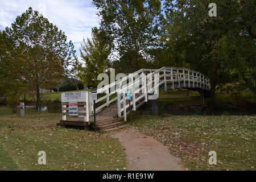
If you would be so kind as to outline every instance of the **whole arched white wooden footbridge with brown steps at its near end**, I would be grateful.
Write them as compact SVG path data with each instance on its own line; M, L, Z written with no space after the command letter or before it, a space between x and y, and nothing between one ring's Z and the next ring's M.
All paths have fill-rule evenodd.
M127 90L131 92L130 105L132 111L135 111L148 100L152 100L152 107L157 109L156 101L159 90L167 91L181 88L199 91L201 102L204 102L204 93L210 90L210 80L202 73L192 69L163 67L160 69L140 69L121 80L97 89L97 93L105 93L105 96L96 100L96 129L98 131L112 131L127 126L126 118L130 114L126 96ZM63 102L63 118L59 125L94 126L92 125L94 122L91 93L86 92L85 102L78 103L79 115L82 118L67 119L68 103Z

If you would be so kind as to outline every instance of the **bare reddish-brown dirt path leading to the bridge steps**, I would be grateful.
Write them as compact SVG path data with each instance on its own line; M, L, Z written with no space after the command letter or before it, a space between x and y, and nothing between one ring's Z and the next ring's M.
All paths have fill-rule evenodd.
M143 135L135 129L113 133L123 145L131 171L181 170L179 159L171 155L168 148L154 138Z

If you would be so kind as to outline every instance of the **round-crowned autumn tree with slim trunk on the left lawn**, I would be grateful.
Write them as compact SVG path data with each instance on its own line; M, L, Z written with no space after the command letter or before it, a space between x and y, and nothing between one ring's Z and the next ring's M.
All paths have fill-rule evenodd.
M11 27L4 33L14 49L22 49L18 55L19 72L36 90L36 108L40 105L40 86L64 75L71 64L72 42L67 43L67 36L49 23L38 11L30 7L18 16Z

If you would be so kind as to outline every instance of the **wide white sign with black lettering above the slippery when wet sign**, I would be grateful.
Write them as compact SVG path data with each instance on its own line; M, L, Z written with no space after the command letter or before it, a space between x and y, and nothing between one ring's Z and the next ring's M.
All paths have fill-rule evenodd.
M86 92L61 93L61 102L86 102Z

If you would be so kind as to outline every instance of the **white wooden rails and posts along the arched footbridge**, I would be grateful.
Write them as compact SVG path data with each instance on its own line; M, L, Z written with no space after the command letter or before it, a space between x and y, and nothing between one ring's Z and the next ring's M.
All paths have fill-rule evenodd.
M182 71L182 73L180 72ZM130 77L134 77L135 74L142 74L144 72L150 72L146 78L144 77L143 79L148 79L148 78L152 78L152 76L155 73L159 73L162 72L162 75L159 75L159 85L161 86L162 84L164 84L164 90L167 89L167 82L171 82L172 83L172 88L174 89L174 82L178 83L178 87L181 88L181 82L184 82L183 85L185 85L185 82L188 81L188 85L189 87L200 87L203 89L210 89L210 80L207 76L205 76L203 73L194 71L193 69L188 69L188 68L178 68L178 67L162 67L160 69L139 69L137 72L131 73L132 75L127 75L126 77L123 77L120 80L117 80L115 82L110 83L109 85L104 86L103 88L100 88L97 90L97 92L106 92L106 95L104 97L98 98L98 100L96 101L96 103L105 100L106 99L106 103L102 104L100 106L98 106L96 108L96 112L103 109L104 107L110 105L112 102L118 100L118 117L124 117L126 120L126 109L127 107L129 107L129 105L125 104L126 102L126 96L125 96L125 91L128 89L133 89L133 103L131 104L133 106L133 110L136 110L136 102L139 100L144 100L145 102L147 102L147 97L148 97L148 93L143 93L141 94L138 98L136 98L135 93L137 93L137 90L139 90L139 92L143 89L143 86L140 85L139 83L141 82L141 79L139 80L135 80L135 82L133 83L129 83L127 85L124 85L125 87L122 87L117 96L112 98L112 100L109 100L109 97L112 96L113 94L115 94L115 92L110 92L109 93L109 89L112 88L113 86L116 86L118 84L121 84L122 81L124 80L128 80ZM169 72L169 74L168 74ZM187 73L185 73L187 72ZM191 73L191 74L190 74ZM164 78L163 78L164 77ZM167 77L170 77L167 79ZM163 78L163 80L161 80ZM153 82L153 80L151 80L151 82ZM134 90L134 86L139 85L139 88L137 90ZM192 85L192 86L191 86ZM148 84L144 84L144 89L147 89ZM154 89L151 89L154 90ZM121 94L122 93L122 94ZM123 107L121 108L121 97L122 97L122 103L123 103ZM90 107L90 113L92 114L92 108L93 108L93 102L90 102L91 107ZM124 109L126 108L126 109ZM123 114L122 114L123 112ZM129 112L129 111L128 111Z

